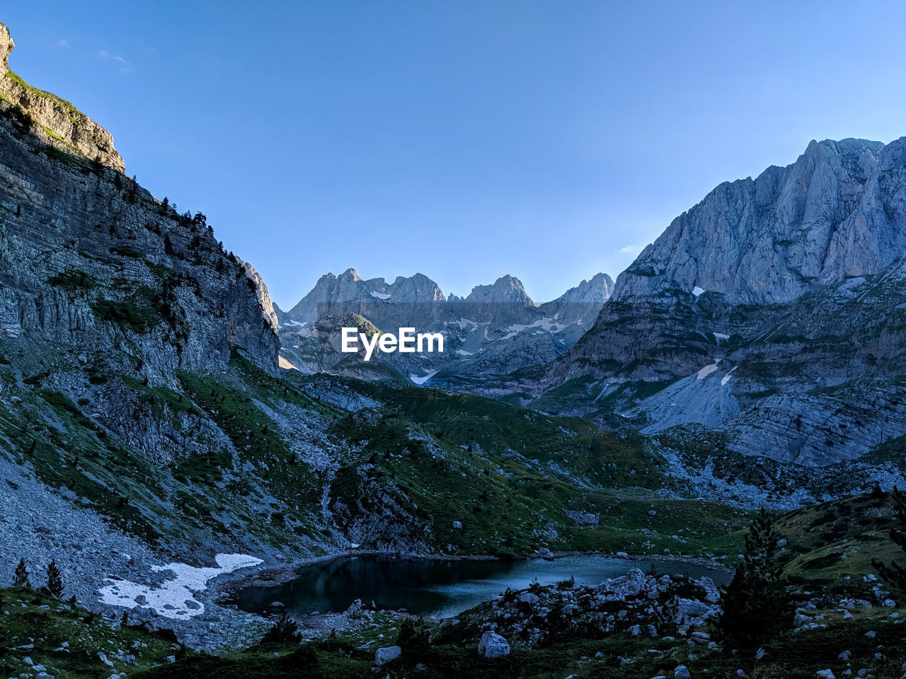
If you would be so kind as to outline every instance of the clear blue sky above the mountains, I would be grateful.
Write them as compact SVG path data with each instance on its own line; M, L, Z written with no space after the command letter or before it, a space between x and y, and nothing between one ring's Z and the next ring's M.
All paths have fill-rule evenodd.
M284 308L349 266L545 301L810 139L906 134L901 3L5 5L13 70Z

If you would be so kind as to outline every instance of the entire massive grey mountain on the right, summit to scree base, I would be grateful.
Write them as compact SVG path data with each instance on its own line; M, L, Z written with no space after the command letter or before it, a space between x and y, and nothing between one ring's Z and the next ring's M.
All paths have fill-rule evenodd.
M904 252L906 139L813 142L680 215L573 349L507 387L647 431L715 426L747 454L857 458L906 433Z

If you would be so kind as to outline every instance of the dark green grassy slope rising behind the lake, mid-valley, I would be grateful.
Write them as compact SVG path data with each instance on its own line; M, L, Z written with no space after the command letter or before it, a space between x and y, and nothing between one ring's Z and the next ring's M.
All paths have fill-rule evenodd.
M323 378L293 378L305 384ZM438 550L470 554L561 550L725 550L747 522L716 502L665 499L662 461L639 439L576 418L548 417L476 396L348 380L385 406L346 416L338 435L362 442L337 474L332 496L351 503L366 485L429 522ZM364 480L361 472L364 468ZM578 527L564 512L592 512ZM462 523L454 529L453 521ZM554 533L555 531L555 533ZM673 537L677 536L677 537Z

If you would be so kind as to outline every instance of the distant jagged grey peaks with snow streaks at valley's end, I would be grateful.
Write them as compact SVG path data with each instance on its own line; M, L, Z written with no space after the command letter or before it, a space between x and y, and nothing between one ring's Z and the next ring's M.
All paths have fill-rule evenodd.
M522 282L510 275L476 286L465 298L451 294L446 299L421 273L392 283L364 281L354 269L328 273L293 309L279 314L282 356L306 373L400 378L468 390L489 376L543 365L564 353L591 327L611 289L611 278L598 273L535 306ZM352 359L339 350L342 325L335 322L349 313L384 332L403 327L439 332L444 353L375 355L368 363Z

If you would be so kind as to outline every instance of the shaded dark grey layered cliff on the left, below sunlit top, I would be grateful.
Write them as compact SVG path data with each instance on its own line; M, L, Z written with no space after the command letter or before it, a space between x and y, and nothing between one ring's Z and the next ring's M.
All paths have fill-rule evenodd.
M9 119L0 139L0 336L53 341L89 364L140 362L152 382L225 364L230 345L276 371L266 288L203 215L177 215L117 171L48 153Z

